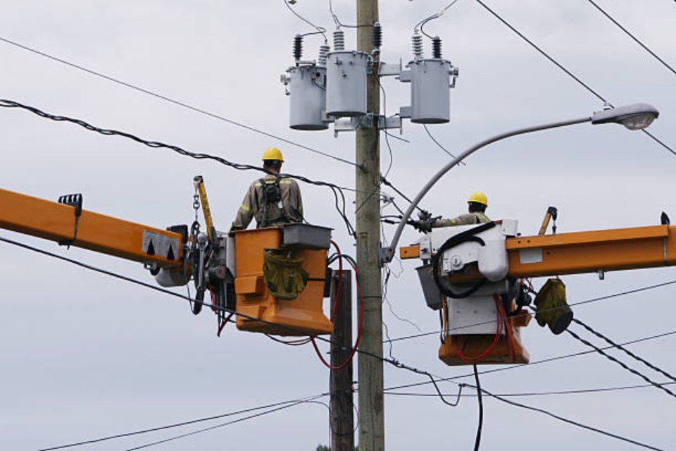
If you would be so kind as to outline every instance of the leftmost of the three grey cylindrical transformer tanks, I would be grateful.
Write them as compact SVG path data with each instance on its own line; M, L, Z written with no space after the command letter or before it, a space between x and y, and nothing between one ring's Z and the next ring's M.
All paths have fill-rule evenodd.
M289 127L294 130L326 130L326 68L301 64L287 70L291 97Z

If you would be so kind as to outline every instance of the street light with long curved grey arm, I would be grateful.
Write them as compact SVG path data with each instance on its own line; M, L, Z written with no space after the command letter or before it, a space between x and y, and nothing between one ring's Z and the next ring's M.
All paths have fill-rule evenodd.
M657 109L654 106L651 106L649 104L632 104L627 106L620 106L618 108L609 108L603 109L601 111L596 111L596 113L592 114L591 117L587 118L572 119L570 121L535 125L534 127L512 130L511 132L501 133L500 135L490 137L487 140L475 144L474 146L470 147L469 149L459 154L455 159L449 161L449 163L446 163L446 166L439 169L439 171L436 174L434 174L434 176L430 178L430 180L425 184L423 189L420 190L420 192L418 192L418 194L413 199L413 202L411 202L411 205L408 206L408 209L403 214L403 218L401 218L399 226L397 226L396 231L394 232L394 236L392 237L392 242L390 242L389 247L382 247L380 249L381 264L387 264L394 258L394 251L396 249L397 243L399 242L399 238L401 237L401 233L403 232L403 228L406 226L408 219L411 218L411 214L413 214L413 210L415 209L415 207L418 206L420 200L423 199L423 197L425 197L425 194L427 194L427 192L430 191L432 186L434 186L434 184L437 183L440 178L446 175L446 173L450 171L450 169L453 166L456 166L458 163L463 161L463 159L467 158L468 156L470 156L477 150L481 149L482 147L485 147L488 144L504 140L505 138L515 135L524 135L525 133L537 132L539 130L560 128L565 127L567 125L575 125L585 122L591 122L594 125L605 123L618 123L624 125L629 130L642 130L648 127L659 115L660 112L657 111Z

